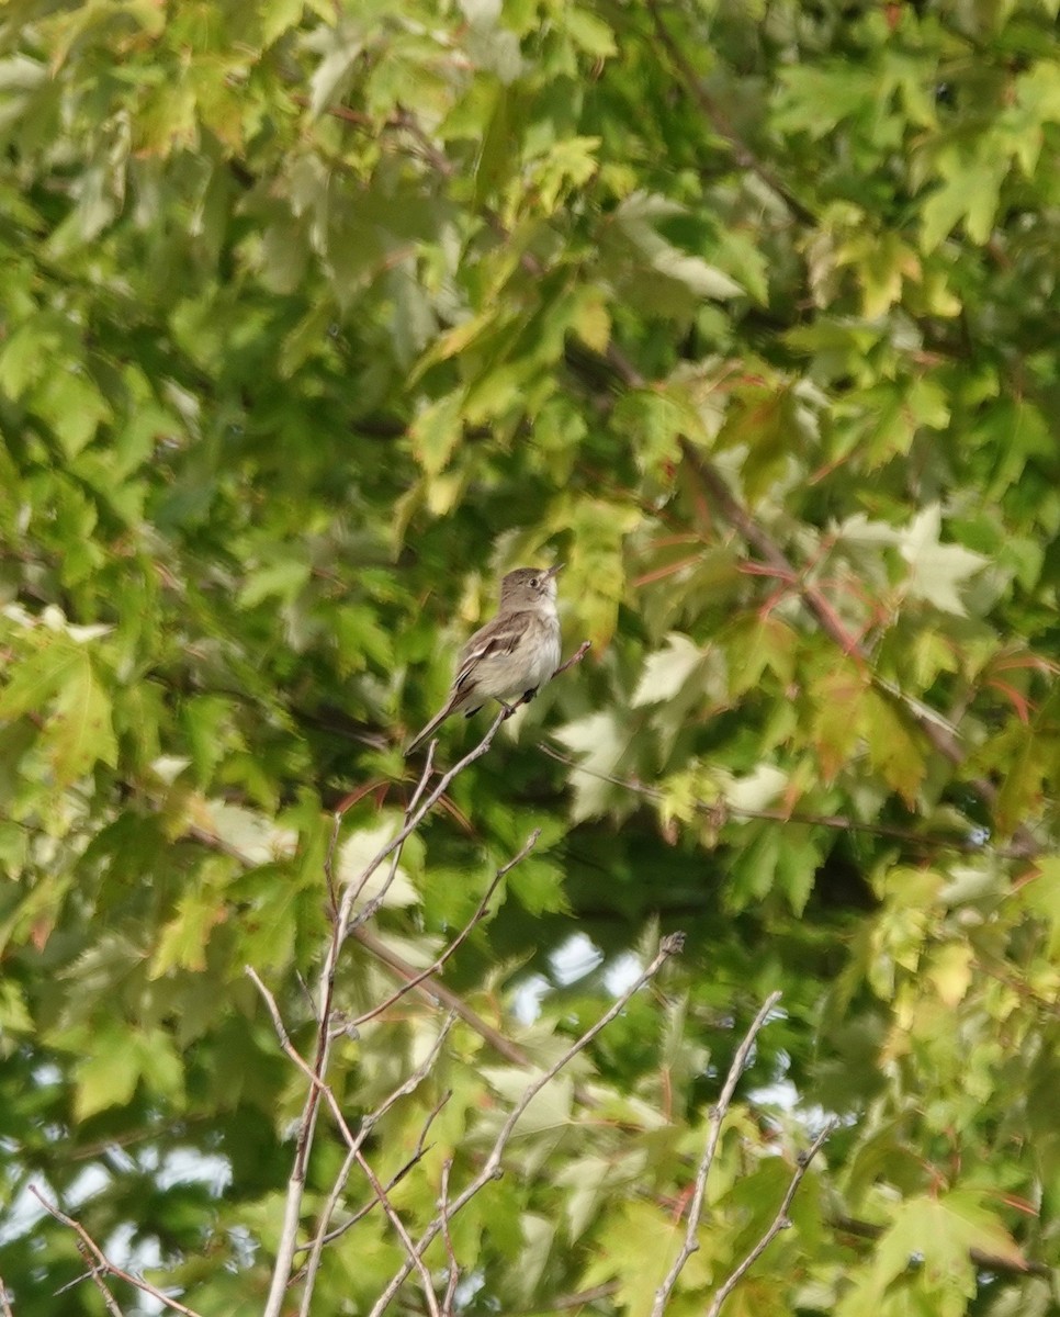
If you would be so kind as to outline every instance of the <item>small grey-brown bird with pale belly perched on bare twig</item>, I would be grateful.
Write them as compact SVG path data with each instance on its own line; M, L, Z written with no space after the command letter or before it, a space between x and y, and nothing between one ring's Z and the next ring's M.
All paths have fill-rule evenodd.
M460 653L457 674L449 698L424 730L415 736L406 755L425 741L449 718L477 714L487 699L506 709L533 699L560 666L560 618L556 612L556 573L537 568L516 568L500 582L496 616L481 627ZM508 705L510 699L520 699Z

